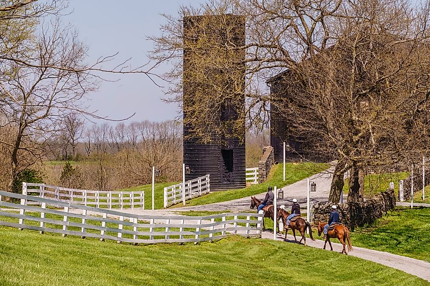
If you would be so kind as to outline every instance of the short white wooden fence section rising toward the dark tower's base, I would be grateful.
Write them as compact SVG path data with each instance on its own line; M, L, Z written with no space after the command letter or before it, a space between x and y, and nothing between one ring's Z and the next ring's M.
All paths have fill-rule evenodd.
M185 200L200 197L210 192L209 175L185 182ZM182 183L164 188L164 207L183 201Z

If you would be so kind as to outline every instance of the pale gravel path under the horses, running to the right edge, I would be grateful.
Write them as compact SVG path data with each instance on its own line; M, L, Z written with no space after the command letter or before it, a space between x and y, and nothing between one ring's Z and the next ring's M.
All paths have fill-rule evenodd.
M296 237L298 238L298 236ZM273 239L273 233L263 232L262 238ZM279 241L283 241L283 238L284 238L284 235L276 236L276 239ZM286 238L288 241L294 242L293 235L287 235ZM342 244L334 243L334 241L338 241L338 240L331 239L331 241L332 241L331 244L333 246L333 251L338 251L338 252L342 251ZM323 248L324 246L323 240L312 241L310 239L307 239L306 242L307 242L307 245L311 247ZM365 260L373 261L388 267L392 267L392 268L404 271L406 273L418 276L430 282L430 263L422 260L409 258L409 257L394 255L388 252L355 247L354 241L352 241L352 243L353 243L353 250L349 252L349 255L362 258ZM330 245L328 245L328 243L327 243L326 249L330 249Z

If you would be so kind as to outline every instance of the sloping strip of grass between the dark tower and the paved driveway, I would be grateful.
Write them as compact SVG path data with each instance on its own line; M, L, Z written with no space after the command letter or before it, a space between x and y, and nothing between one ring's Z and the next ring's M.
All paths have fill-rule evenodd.
M266 192L269 186L283 187L285 185L290 185L313 174L321 172L322 170L325 170L327 168L329 168L329 165L325 163L287 163L285 164L285 181L283 181L282 164L273 165L272 169L270 170L268 179L264 183L251 185L245 188L213 192L208 195L186 201L186 206L197 206L226 202L234 199L240 199L248 196L261 194ZM172 207L174 208L180 206L182 206L182 204L177 204Z

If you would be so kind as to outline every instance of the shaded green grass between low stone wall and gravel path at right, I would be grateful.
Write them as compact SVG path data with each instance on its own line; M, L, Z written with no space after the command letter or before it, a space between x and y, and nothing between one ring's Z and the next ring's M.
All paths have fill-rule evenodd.
M374 226L357 228L352 244L430 262L430 208L396 207Z

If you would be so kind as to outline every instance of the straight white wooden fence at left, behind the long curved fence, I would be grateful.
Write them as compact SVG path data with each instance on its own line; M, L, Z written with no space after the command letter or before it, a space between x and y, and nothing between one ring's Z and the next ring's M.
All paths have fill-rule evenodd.
M33 195L66 203L105 208L145 209L145 193L73 189L47 184L22 183L22 195Z

